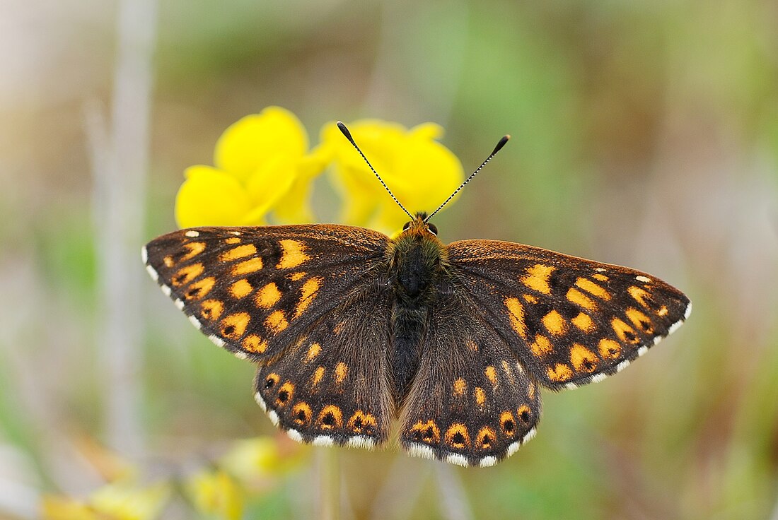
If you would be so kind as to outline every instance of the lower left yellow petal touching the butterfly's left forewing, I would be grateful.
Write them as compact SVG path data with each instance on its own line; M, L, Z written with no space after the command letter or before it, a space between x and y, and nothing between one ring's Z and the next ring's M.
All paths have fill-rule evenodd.
M242 225L251 210L246 188L231 175L210 166L191 166L176 196L180 228Z

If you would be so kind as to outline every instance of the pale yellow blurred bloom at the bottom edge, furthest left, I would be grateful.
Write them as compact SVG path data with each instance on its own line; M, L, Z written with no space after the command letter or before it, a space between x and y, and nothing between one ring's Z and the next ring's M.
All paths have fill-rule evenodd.
M44 497L41 513L46 520L152 520L159 518L169 495L166 483L141 487L120 480L100 487L86 501Z

